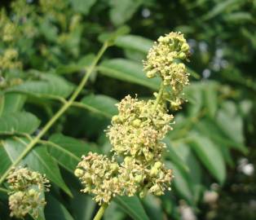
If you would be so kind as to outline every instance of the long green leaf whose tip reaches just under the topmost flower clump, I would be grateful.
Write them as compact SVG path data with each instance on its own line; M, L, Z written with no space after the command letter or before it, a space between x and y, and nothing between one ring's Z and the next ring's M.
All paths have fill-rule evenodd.
M160 79L148 79L143 73L142 65L128 59L108 59L98 69L105 76L147 86L152 90L157 90L160 85Z

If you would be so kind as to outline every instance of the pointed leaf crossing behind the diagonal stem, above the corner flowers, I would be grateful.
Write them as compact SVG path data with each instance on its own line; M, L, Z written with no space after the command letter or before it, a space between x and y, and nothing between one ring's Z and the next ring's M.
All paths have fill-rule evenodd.
M27 139L20 138L2 140L2 146L7 152L11 163L24 152L28 143L29 141ZM57 163L46 151L45 146L34 147L29 154L24 157L24 160L20 162L20 165L28 165L30 169L38 171L41 174L46 174L46 178L49 178L53 183L62 188L69 196L72 196L71 191L69 191L61 177Z

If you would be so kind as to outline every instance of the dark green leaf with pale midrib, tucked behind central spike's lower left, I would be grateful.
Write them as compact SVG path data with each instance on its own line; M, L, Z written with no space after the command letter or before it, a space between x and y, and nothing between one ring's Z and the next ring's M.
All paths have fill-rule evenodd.
M73 173L77 164L81 161L81 156L94 150L90 144L64 136L63 134L51 135L46 144L49 146L51 156L71 173Z

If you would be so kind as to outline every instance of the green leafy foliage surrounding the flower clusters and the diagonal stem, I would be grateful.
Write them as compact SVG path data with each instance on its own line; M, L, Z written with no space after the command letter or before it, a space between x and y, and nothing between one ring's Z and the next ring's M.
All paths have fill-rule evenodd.
M0 6L0 174L72 93L104 39L118 36L76 105L22 161L52 182L46 219L94 215L95 203L79 193L72 174L77 158L108 152L104 129L117 100L148 98L157 90L141 60L152 41L170 31L185 34L192 54L188 103L174 112L174 130L165 139L173 190L141 203L117 198L104 219L256 218L255 0L17 0ZM7 195L0 199L0 218L9 219Z

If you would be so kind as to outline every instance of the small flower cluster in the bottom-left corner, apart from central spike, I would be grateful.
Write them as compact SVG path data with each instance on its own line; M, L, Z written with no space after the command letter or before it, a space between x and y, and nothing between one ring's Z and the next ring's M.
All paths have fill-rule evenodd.
M17 168L11 170L7 181L11 217L24 218L29 213L33 218L38 218L40 209L46 205L43 193L49 191L50 187L45 175L27 168Z

